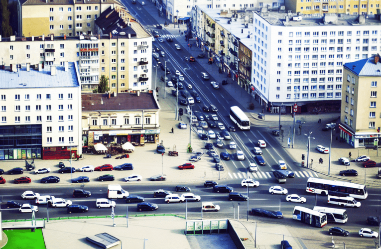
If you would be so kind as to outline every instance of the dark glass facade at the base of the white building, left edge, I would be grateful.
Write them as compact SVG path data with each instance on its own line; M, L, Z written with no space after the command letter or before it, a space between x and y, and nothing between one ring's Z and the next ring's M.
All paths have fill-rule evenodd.
M41 124L0 126L0 160L41 158Z

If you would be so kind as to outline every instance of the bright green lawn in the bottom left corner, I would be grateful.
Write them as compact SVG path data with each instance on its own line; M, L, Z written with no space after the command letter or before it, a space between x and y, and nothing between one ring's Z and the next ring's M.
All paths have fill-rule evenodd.
M2 249L46 249L42 230L4 230L8 243Z

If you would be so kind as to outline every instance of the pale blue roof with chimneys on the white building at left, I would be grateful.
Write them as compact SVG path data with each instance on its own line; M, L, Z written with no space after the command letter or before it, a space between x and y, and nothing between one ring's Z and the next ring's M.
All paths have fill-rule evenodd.
M68 63L68 71L64 66L56 66L56 75L50 75L51 66L45 66L41 71L30 67L17 68L11 72L9 68L0 70L0 88L50 88L50 87L79 87L77 68L74 62Z

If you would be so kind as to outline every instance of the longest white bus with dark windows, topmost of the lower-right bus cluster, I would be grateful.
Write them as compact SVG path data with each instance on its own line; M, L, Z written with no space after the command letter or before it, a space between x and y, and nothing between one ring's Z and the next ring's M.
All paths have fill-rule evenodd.
M366 199L368 197L368 191L365 185L313 177L308 178L306 191L322 196L328 195L328 191L336 191L349 194L349 196L357 199Z

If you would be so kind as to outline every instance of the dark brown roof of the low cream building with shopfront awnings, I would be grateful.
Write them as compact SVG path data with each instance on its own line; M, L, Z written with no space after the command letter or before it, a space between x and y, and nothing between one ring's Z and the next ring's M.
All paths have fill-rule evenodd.
M159 110L152 91L147 93L82 94L82 112Z

